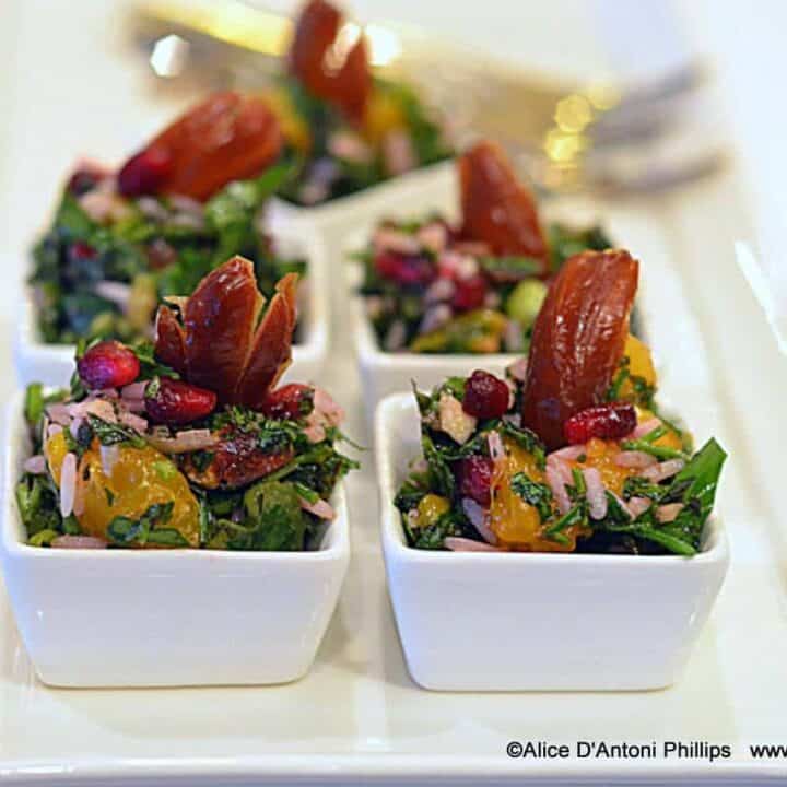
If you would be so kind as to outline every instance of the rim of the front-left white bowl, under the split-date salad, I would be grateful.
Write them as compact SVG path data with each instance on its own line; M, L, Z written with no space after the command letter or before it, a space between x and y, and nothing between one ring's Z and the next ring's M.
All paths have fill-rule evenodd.
M202 550L192 548L162 550L109 550L109 549L45 549L32 547L23 540L24 525L16 508L14 489L20 474L20 466L30 447L24 445L20 427L23 424L24 392L17 390L5 406L7 448L3 461L3 509L0 521L0 559L16 560L113 560L137 561L140 571L146 566L161 565L167 560L178 557L187 565L195 563L215 564L216 561L254 562L278 565L282 563L319 564L343 560L350 554L350 518L344 479L333 490L330 502L336 517L328 526L320 547L316 550L298 552L255 552L243 550ZM0 561L1 562L1 561Z

